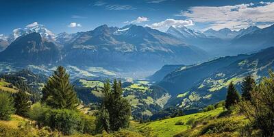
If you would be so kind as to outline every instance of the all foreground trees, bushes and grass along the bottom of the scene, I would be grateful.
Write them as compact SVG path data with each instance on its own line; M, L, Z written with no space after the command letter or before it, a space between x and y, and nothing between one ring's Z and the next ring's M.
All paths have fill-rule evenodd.
M136 121L116 80L103 84L94 113L82 112L69 74L60 66L39 101L26 84L17 92L0 91L0 136L273 136L274 73L269 75L257 85L247 75L241 97L230 82L226 100L201 112L184 115L182 109L165 109L153 121Z

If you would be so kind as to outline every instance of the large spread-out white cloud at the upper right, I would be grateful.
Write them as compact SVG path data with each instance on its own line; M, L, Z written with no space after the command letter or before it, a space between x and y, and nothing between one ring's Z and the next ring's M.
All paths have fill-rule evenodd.
M249 25L274 23L274 2L247 3L225 6L195 6L182 11L179 16L198 22L208 23L208 28L242 29Z

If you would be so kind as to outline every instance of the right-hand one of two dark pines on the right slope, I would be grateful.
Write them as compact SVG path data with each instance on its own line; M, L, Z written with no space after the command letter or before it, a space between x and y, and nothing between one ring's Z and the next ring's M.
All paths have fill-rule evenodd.
M242 81L242 99L247 101L251 100L251 91L253 90L254 86L256 85L255 79L253 79L252 75L247 75L245 79Z

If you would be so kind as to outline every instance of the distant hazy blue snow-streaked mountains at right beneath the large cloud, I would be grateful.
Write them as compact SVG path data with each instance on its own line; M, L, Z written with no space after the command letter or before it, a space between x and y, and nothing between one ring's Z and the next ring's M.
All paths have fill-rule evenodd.
M210 57L254 53L273 46L273 25L260 29L250 26L239 31L224 28L218 31L208 29L197 32L186 27L170 27L171 34L189 45L195 45L208 52Z

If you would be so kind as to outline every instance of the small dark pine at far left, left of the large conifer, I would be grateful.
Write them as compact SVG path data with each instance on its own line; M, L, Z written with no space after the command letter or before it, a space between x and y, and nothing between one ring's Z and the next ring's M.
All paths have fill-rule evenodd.
M25 91L19 90L16 92L14 95L14 108L16 108L15 114L27 117L30 105L32 105L32 102Z

